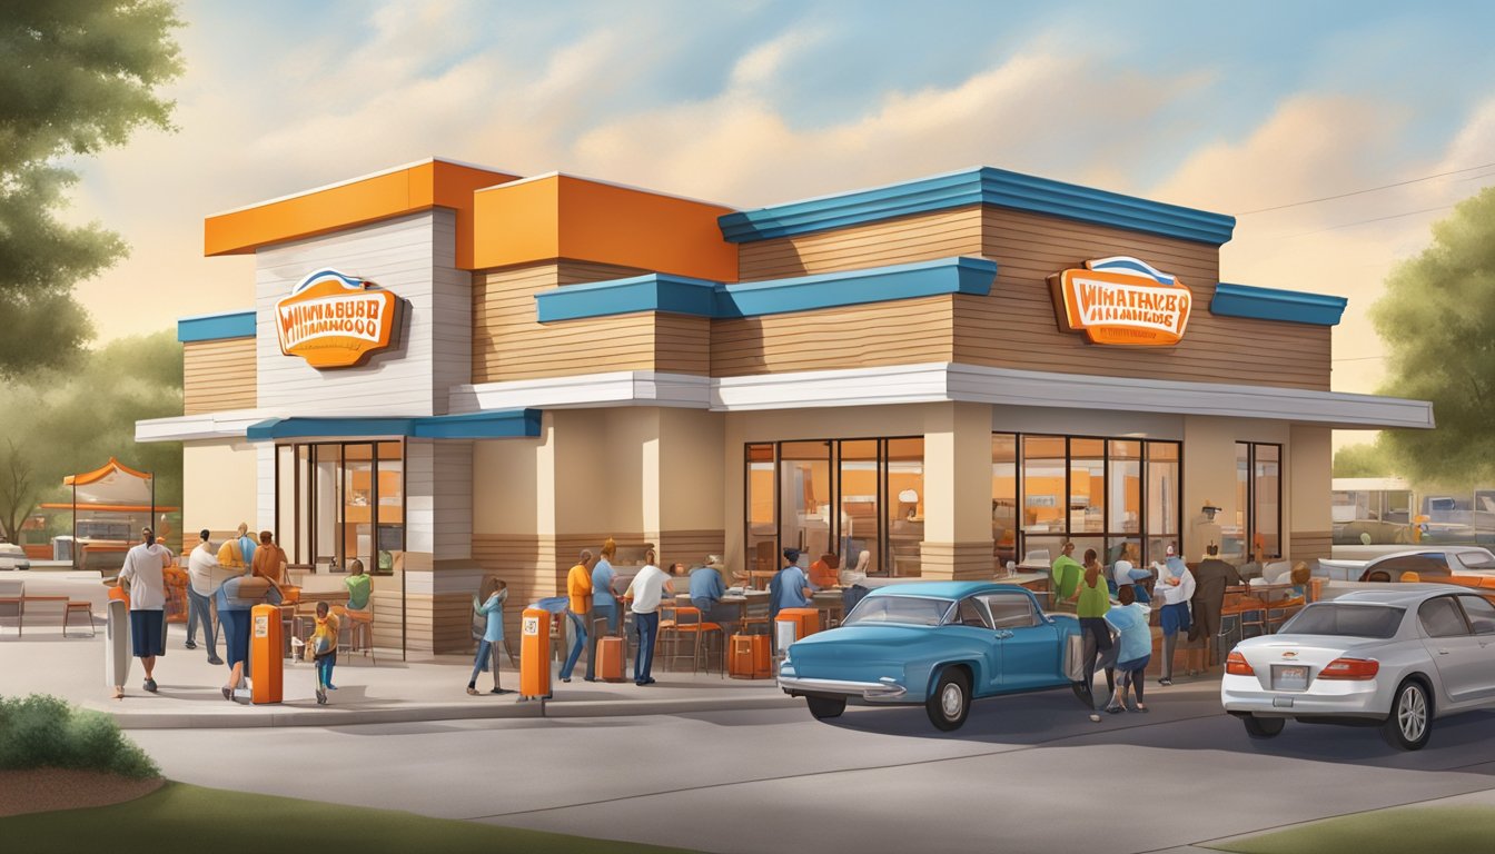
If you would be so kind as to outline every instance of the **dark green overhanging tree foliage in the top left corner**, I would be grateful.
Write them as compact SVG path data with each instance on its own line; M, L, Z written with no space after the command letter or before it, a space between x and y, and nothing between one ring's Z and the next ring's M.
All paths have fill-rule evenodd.
M78 173L64 159L170 129L158 87L181 70L169 0L0 3L0 377L54 366L93 335L78 281L124 257L99 223L58 220Z

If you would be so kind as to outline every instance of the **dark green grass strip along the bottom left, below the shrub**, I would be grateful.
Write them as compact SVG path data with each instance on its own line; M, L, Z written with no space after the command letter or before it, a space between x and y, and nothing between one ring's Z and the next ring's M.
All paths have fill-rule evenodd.
M357 854L680 851L472 821L426 818L387 809L244 794L181 782L167 782L152 794L114 806L0 818L0 839L4 841L0 848L27 854L51 851L265 854L315 850ZM315 845L317 842L333 844L335 848Z

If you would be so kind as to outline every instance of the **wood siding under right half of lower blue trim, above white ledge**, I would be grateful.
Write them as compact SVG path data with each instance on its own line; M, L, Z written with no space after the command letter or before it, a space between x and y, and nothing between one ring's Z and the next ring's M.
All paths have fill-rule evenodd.
M712 375L951 360L951 296L770 314L712 325Z

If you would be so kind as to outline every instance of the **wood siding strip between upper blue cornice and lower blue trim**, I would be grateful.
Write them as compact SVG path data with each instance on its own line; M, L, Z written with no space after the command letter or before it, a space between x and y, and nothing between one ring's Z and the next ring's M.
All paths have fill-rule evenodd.
M742 244L742 281L981 254L981 208L913 214L816 235Z

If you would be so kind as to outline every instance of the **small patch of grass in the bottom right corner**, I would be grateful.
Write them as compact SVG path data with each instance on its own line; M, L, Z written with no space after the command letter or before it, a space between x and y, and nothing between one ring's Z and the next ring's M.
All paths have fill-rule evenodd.
M0 826L3 829L3 826ZM1402 806L1262 833L1220 851L1242 854L1407 854L1495 851L1495 808Z

